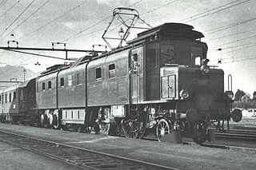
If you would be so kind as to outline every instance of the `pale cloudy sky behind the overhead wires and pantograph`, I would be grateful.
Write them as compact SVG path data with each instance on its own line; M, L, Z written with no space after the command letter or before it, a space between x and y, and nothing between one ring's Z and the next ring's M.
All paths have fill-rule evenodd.
M252 94L256 90L256 0L0 0L0 46L12 40L18 41L20 47L38 48L51 48L51 42L65 42L67 49L106 45L102 34L116 7L138 10L140 18L150 26L165 22L194 26L194 30L205 35L202 42L209 48L209 64L224 69L226 89L231 74L234 92L242 89ZM117 35L120 25L114 26L111 34ZM130 34L130 39L135 38L135 33L138 30ZM39 53L65 57L62 52ZM70 53L69 56L84 55ZM34 65L37 62L41 65ZM22 65L42 72L50 65L63 62L0 50L0 66Z

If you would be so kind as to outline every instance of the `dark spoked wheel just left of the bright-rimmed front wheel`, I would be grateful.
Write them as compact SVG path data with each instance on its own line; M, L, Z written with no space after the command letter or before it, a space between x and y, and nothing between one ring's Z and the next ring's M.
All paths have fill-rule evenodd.
M139 132L140 123L138 121L127 121L122 125L122 131L125 133L126 137L138 138L140 136Z

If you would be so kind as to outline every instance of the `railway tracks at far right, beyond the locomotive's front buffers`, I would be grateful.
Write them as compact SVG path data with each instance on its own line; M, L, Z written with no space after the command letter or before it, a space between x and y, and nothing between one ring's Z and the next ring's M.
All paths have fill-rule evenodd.
M256 132L253 130L230 130L229 132L214 132L216 139L250 140L256 141Z

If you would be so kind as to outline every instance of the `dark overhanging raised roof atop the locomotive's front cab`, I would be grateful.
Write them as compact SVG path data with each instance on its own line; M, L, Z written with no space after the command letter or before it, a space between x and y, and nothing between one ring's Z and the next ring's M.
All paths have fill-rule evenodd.
M189 39L196 40L204 38L201 32L193 30L194 27L181 23L165 23L156 26L150 30L143 31L138 34L138 38L134 38L128 44L150 38L152 35L158 35L160 39Z

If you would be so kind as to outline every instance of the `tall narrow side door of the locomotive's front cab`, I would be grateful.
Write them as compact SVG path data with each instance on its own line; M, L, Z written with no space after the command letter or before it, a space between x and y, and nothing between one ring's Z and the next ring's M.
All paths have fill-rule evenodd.
M131 49L129 53L129 68L130 68L130 102L137 104L142 100L142 47Z

